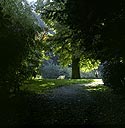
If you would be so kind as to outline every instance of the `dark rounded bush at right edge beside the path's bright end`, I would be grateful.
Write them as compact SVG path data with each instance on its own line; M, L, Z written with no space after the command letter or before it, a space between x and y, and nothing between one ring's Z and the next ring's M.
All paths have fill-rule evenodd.
M125 88L125 65L118 60L105 61L101 66L103 82L113 89Z

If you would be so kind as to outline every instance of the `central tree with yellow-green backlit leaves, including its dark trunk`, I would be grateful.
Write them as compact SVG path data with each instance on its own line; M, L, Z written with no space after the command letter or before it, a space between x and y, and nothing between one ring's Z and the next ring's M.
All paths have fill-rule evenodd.
M60 25L55 27L56 34L48 36L45 44L48 45L47 51L53 51L59 57L59 62L63 66L72 66L72 78L80 78L80 69L88 68L92 70L99 64L89 58L84 51L80 49L80 40L78 32L70 30L69 28ZM46 35L47 36L47 35ZM75 43L74 43L75 42ZM92 62L92 63L89 63Z

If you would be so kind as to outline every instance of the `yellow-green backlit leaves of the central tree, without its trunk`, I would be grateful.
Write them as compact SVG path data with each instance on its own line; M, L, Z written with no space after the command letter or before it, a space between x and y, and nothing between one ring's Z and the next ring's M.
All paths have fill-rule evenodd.
M49 47L48 49L59 57L59 63L61 65L72 65L73 56L80 58L80 68L84 71L90 71L98 67L100 62L91 59L89 54L87 55L84 53L83 49L80 48L80 43L83 40L79 38L78 32L55 21L53 21L53 24L56 34L49 36L46 40L46 44L51 44L51 48Z

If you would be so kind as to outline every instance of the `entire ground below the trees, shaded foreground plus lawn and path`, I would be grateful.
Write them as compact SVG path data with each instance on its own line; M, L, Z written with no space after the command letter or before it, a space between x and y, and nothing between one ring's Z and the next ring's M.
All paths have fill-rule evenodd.
M101 79L30 80L17 94L2 94L0 127L125 126L125 96ZM59 127L58 126L58 127Z

